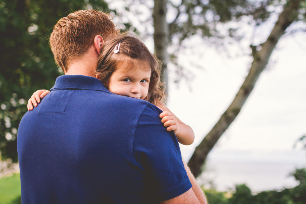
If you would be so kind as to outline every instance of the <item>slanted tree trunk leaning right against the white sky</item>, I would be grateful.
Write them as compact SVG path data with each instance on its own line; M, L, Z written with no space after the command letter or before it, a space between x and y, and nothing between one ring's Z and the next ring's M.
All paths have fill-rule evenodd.
M219 121L215 124L211 131L205 136L200 145L196 147L191 159L188 162L194 176L200 175L201 167L207 158L207 154L237 117L242 106L244 105L244 102L247 100L248 96L253 90L260 73L266 67L269 57L271 56L271 53L274 50L278 40L285 33L285 29L296 19L299 5L300 0L291 0L289 2L288 6L286 6L279 15L278 21L271 31L267 41L262 44L262 49L260 51L256 51L256 47L251 46L254 60L248 76L245 78L237 95L233 99L233 102L222 114Z

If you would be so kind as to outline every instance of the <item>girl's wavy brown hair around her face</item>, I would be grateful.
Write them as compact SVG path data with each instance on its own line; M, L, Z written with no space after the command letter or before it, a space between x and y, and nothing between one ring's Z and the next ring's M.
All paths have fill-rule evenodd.
M118 53L114 53L115 47L120 43ZM111 75L117 68L119 62L132 62L138 60L149 65L151 69L151 79L149 90L144 100L157 105L157 102L163 102L165 99L164 84L160 81L161 63L147 49L139 39L131 35L110 36L105 40L101 48L97 65L97 78L108 88ZM132 60L131 60L132 59ZM131 69L133 68L131 64ZM146 67L146 66L145 66Z

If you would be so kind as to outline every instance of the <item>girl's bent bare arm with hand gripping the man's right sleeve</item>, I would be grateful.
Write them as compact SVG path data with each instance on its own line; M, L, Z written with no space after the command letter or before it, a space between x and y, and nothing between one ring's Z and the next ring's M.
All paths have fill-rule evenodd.
M162 118L162 123L167 127L167 131L173 130L179 143L184 145L192 144L194 141L194 132L192 128L178 119L165 104L159 102L157 106L164 111L159 117Z

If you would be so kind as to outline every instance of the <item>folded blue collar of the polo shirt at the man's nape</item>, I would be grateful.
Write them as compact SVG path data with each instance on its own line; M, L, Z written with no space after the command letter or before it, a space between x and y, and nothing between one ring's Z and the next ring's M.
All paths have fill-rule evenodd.
M88 90L101 90L107 91L103 83L95 77L84 75L62 75L56 78L54 89L88 89Z

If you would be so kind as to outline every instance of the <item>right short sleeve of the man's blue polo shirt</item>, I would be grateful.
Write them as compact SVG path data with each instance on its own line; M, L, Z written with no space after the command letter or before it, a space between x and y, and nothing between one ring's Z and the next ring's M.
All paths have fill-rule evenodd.
M164 201L183 194L192 185L177 138L163 126L160 113L151 104L144 109L136 126L133 153L136 165L144 172L144 182L149 183L159 201Z

